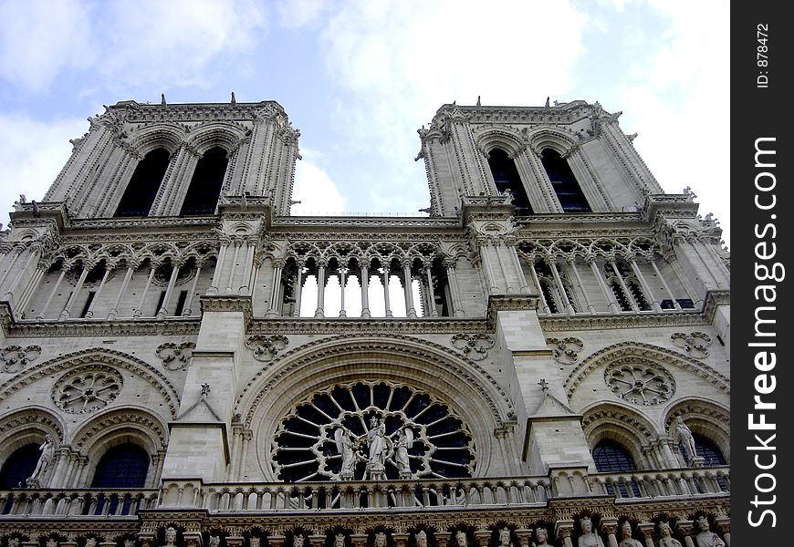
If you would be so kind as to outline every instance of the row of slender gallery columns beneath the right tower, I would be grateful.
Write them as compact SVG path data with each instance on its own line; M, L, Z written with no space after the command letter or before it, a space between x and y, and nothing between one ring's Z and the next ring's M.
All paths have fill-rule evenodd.
M536 255L535 254L526 255L525 259L527 260L529 265L529 275L532 278L532 282L535 284L536 287L538 287L539 290L540 276L538 275L538 270L536 268ZM546 255L546 256L542 256L541 260L548 265L548 268L551 271L563 307L566 310L566 314L567 315L575 314L576 313L574 309L575 306L573 305L573 303L570 302L569 295L566 292L565 285L563 283L563 276L565 275L565 273L560 272L560 267L557 257L552 255ZM596 311L595 306L590 301L590 298L588 296L588 291L584 288L582 284L580 270L577 267L576 257L566 257L563 260L568 264L569 272L573 274L574 280L580 287L580 294L584 299L584 304L588 310L587 313L590 314L599 313ZM663 309L660 304L661 301L656 297L655 294L653 294L651 285L646 280L642 270L640 269L640 265L637 263L636 259L630 255L625 257L625 261L632 268L632 273L634 274L634 277L636 277L637 282L640 284L640 288L642 289L646 300L651 304L653 311L662 312ZM620 313L622 311L621 305L618 303L615 294L612 292L608 284L607 277L603 274L601 268L599 268L597 258L595 256L590 255L585 258L585 262L590 266L590 272L597 281L597 283L599 284L599 287L601 288L601 294L603 294L604 298L606 299L606 302L608 303L608 311L606 313L610 313L610 314ZM670 299L673 302L674 309L680 311L682 309L681 304L678 303L677 299L673 294L673 291L670 289L670 285L667 284L667 282L663 278L662 273L659 271L659 268L656 265L656 263L651 258L648 258L647 262L650 263L651 266L653 267L653 272L654 274L656 274L660 283L662 284L665 295L667 296L668 299ZM627 280L624 278L624 276L621 274L620 269L618 268L617 259L614 256L610 256L607 258L606 264L611 269L611 272L614 274L613 278L620 285L623 294L626 295L629 304L632 306L632 311L633 312L641 311L640 304L637 302L636 298L634 297L634 294L632 294L632 291L629 289L629 286L627 284ZM541 304L543 306L543 311L547 314L550 313L549 311L550 307L546 302L545 297L541 298Z

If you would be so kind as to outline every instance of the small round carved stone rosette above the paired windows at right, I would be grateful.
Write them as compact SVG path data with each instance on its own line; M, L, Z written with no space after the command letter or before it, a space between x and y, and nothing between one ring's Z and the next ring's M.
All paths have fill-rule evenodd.
M635 405L659 405L675 393L672 374L661 365L636 360L613 363L604 370L612 393Z

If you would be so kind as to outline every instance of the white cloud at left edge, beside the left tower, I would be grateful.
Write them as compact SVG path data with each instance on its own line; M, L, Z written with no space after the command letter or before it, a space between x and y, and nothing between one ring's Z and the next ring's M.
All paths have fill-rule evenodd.
M7 225L19 194L41 201L71 154L69 139L88 129L85 119L43 123L0 114L0 222Z

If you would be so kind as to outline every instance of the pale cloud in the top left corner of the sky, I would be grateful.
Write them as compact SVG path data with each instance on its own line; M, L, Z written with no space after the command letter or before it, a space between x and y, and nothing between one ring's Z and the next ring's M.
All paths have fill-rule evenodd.
M62 70L88 67L89 9L74 0L0 3L0 76L41 91Z

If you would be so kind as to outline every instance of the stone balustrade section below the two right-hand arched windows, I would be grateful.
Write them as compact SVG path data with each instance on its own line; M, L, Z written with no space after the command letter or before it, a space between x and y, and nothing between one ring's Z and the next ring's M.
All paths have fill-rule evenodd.
M594 494L617 501L665 497L692 497L730 492L730 468L596 473L588 476Z

